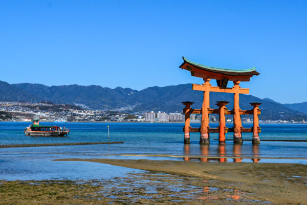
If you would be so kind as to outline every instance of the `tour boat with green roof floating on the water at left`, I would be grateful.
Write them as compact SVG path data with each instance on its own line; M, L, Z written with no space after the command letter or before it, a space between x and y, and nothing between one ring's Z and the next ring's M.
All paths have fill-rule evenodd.
M34 117L32 120L32 125L25 128L25 134L30 136L64 136L68 135L70 130L65 129L65 127L62 129L58 126L46 126L46 125L39 125L39 118Z

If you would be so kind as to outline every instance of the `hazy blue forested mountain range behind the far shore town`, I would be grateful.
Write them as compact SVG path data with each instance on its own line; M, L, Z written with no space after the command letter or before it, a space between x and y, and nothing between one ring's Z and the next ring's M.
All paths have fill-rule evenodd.
M56 104L84 104L93 109L126 110L130 112L165 111L182 112L183 101L193 101L192 108L201 108L203 94L193 91L191 84L166 87L149 87L141 91L117 87L101 86L45 86L41 84L8 84L0 81L0 100L3 101L42 101ZM210 107L217 108L216 101L226 100L226 106L233 108L233 94L210 93ZM280 104L276 101L253 95L240 94L240 108L250 110L252 102L262 103L260 119L307 120L307 103Z

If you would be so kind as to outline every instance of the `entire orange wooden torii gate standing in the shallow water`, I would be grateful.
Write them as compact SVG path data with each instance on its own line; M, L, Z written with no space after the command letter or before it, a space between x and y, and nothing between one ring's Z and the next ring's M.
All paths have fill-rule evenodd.
M241 110L239 108L239 94L249 94L248 88L241 88L239 86L240 81L250 81L250 78L254 75L259 75L254 68L245 70L233 70L233 69L223 69L204 66L201 64L194 63L185 57L182 57L184 62L179 67L191 72L192 76L201 77L204 79L205 83L203 85L192 84L193 90L204 91L204 100L202 109L191 109L193 104L190 101L183 102L185 105L185 127L184 135L185 144L190 143L190 132L200 132L201 139L200 144L209 144L209 133L215 132L219 134L219 143L225 144L225 133L227 131L233 132L233 140L236 144L242 144L242 132L253 132L253 144L260 144L258 133L259 119L258 114L260 114L260 109L258 108L260 103L251 103L253 110ZM211 86L210 80L216 79L217 87ZM232 88L227 88L228 81L233 81L234 86ZM229 102L227 101L217 101L217 106L219 109L209 108L209 94L210 92L222 92L222 93L233 93L233 110L229 111L225 107ZM190 127L190 114L202 114L202 122L200 128ZM216 129L209 127L209 114L219 114L220 115L220 125ZM225 126L225 114L233 114L233 128L226 128ZM254 125L253 128L247 129L242 127L241 117L242 114L253 114L254 115Z

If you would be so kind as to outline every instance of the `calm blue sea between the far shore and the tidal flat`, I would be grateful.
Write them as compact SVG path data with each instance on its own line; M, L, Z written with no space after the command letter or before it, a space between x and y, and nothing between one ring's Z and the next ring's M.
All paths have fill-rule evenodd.
M43 123L54 125L55 123ZM29 122L0 122L0 144L49 144L65 142L107 141L109 125L110 140L124 141L114 145L53 146L30 148L0 149L0 179L89 179L121 176L138 170L119 168L100 163L52 161L58 158L118 158L152 160L196 160L209 157L215 161L222 156L227 161L231 157L246 157L242 161L253 162L290 162L307 164L307 142L261 141L259 146L252 146L251 141L243 145L233 145L226 141L226 146L218 146L217 134L210 134L210 146L200 146L199 133L191 133L191 144L183 144L182 128L184 124L154 123L56 123L69 128L68 137L31 137L23 130ZM191 124L200 127L200 124ZM210 127L217 127L212 124ZM232 125L227 125L232 127ZM251 124L243 127L250 128ZM261 139L307 140L307 125L268 125L260 124ZM232 133L226 139L232 139ZM243 139L252 139L252 133L244 133ZM128 156L127 156L128 155ZM132 155L132 156L131 156ZM142 156L140 156L142 155ZM149 156L144 156L149 155ZM159 156L155 156L159 155ZM164 156L165 155L165 156ZM170 155L170 156L167 156ZM190 156L187 158L187 156ZM212 158L210 158L212 157Z

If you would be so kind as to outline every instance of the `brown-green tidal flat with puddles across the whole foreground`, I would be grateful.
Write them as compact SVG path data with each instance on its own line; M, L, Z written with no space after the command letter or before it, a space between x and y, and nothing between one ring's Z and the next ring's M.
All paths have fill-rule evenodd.
M0 204L306 204L307 166L123 159L89 161L141 169L100 180L0 181Z

